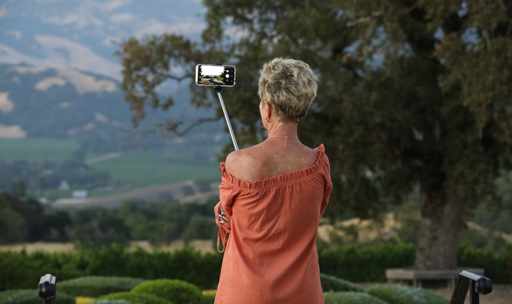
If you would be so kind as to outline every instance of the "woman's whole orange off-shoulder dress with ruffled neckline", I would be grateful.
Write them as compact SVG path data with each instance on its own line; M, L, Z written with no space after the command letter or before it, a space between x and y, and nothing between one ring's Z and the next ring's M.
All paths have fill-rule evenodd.
M215 213L225 253L216 304L324 303L315 240L332 183L324 145L315 150L312 166L255 182L221 163Z

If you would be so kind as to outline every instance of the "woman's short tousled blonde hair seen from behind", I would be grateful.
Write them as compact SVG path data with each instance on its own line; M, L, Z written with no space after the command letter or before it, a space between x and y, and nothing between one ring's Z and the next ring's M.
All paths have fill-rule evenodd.
M258 95L272 106L279 121L300 121L316 97L317 81L307 63L275 58L263 64Z

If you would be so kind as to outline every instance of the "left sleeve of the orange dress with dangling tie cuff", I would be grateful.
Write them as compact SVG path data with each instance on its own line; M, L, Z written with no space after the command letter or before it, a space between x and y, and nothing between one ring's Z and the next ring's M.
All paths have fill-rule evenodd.
M233 198L236 196L236 190L229 183L222 181L219 186L219 203L215 206L215 222L219 226L217 234L217 250L224 252L227 244L227 234L231 233L231 217L233 214ZM219 249L220 241L222 241L222 251Z

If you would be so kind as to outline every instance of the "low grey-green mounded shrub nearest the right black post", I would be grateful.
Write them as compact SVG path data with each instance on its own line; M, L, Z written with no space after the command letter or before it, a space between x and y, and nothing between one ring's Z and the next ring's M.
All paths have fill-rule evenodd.
M430 291L403 285L378 284L370 286L366 292L393 304L447 304L450 302Z

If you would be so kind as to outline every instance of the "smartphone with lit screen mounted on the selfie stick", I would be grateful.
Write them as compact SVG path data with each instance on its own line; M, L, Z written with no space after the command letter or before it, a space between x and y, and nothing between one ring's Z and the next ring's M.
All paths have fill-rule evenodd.
M233 66L217 66L216 64L198 64L196 66L197 85L233 86L234 75Z

